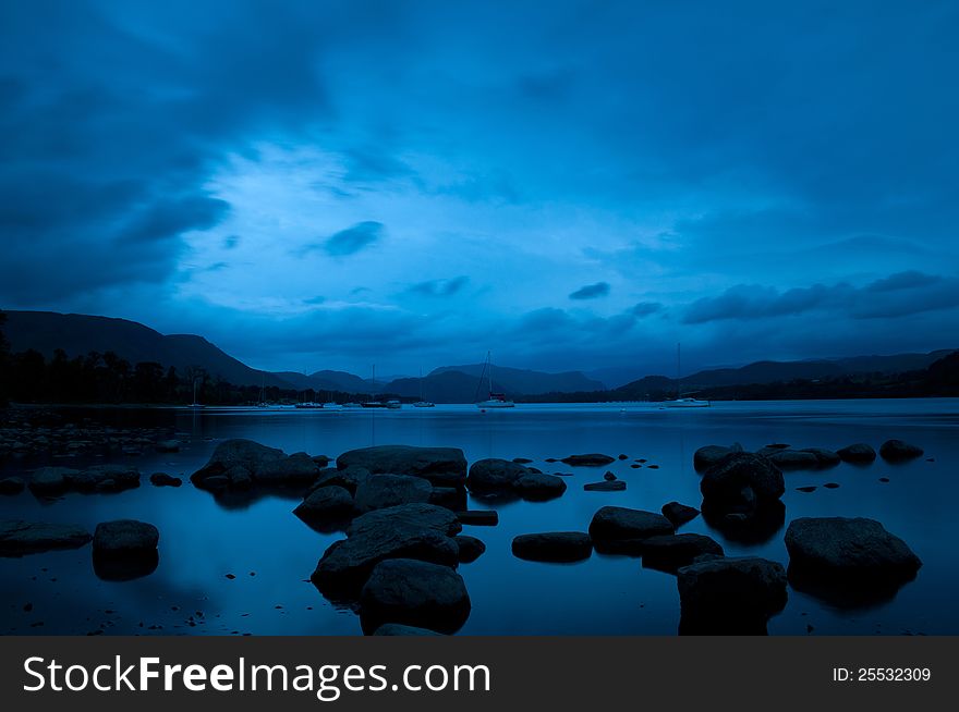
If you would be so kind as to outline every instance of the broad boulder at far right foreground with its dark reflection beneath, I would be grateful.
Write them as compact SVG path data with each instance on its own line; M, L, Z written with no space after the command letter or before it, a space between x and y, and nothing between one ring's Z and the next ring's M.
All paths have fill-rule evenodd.
M922 566L905 541L862 517L794 519L786 550L793 588L837 605L888 598Z

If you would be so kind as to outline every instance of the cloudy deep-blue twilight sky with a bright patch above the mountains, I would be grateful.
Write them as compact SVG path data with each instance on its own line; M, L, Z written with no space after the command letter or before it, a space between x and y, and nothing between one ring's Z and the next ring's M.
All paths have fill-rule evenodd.
M0 0L0 308L251 366L959 345L959 3Z

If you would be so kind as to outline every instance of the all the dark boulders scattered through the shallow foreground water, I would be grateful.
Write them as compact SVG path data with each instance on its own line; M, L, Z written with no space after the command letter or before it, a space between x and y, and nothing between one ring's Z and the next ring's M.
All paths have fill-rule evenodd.
M34 426L31 432L35 433L27 439L31 443L47 437L48 442L65 443L70 450L62 432L44 434ZM99 444L116 439L125 446L123 438L107 429L86 432L98 432ZM24 437L23 431L16 437ZM178 446L174 439L139 439L148 441L139 444L159 450ZM657 511L605 505L583 521L582 530L522 533L512 539L511 552L523 561L551 564L580 562L594 551L639 557L644 568L676 577L679 633L764 634L769 617L785 607L790 588L831 605L857 605L895 596L916 576L922 563L881 523L862 517L791 520L785 533L788 560L784 562L727 557L712 537L679 529L702 513L705 523L730 541L763 541L785 525L781 498L789 472L825 471L841 463L867 467L877 457L901 463L922 454L922 449L901 440L884 442L878 455L866 443L835 452L785 443L755 452L736 443L705 445L693 455L702 493L699 507L676 501ZM547 462L595 469L617 459L627 459L627 455L573 454ZM364 447L331 461L233 439L220 442L190 482L217 498L277 490L299 493L302 501L292 512L296 517L319 531L344 535L321 553L308 575L319 593L352 609L366 634L434 635L456 633L473 605L459 568L484 555L486 544L482 537L464 533L463 527L499 521L496 508L470 510L468 502L488 502L495 507L520 499L548 502L567 492L568 472L543 472L530 463L486 458L469 464L456 447L409 445ZM645 459L632 465L653 467ZM182 484L162 472L151 475L149 481L156 487ZM0 492L57 498L69 492L118 492L139 484L139 471L129 466L48 466L28 477L0 480ZM624 487L623 480L607 471L584 490L616 492ZM811 491L809 486L796 489ZM0 556L92 544L94 572L106 580L151 574L159 565L159 542L156 527L135 520L105 521L94 532L73 525L0 521Z

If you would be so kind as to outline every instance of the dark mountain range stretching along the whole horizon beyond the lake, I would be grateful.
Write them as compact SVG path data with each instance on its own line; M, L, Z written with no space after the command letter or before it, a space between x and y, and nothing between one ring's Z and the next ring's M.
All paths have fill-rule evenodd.
M317 392L339 391L354 394L390 394L406 398L424 397L435 403L471 403L486 396L488 384L481 382L482 364L442 366L420 378L398 378L388 382L361 378L345 371L320 370L315 373L295 371L269 372L250 368L224 353L206 339L191 334L163 335L135 321L51 311L4 311L8 321L3 331L13 352L34 348L46 357L62 348L68 356L85 356L89 352L113 352L131 364L157 361L173 366L181 373L202 368L215 378L236 385L266 385ZM850 358L801 361L757 361L739 368L709 369L683 377L679 381L664 376L646 376L621 382L627 371L603 369L590 376L582 371L546 373L527 369L497 366L494 390L510 397L543 396L551 393L593 393L614 389L618 397L643 400L651 393L669 391L694 392L756 383L793 380L834 379L859 373L900 373L927 368L952 349L928 354L891 356L855 356ZM607 373L610 381L596 375ZM321 395L318 397L323 397Z

